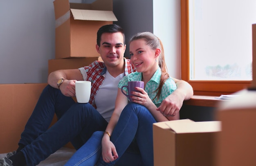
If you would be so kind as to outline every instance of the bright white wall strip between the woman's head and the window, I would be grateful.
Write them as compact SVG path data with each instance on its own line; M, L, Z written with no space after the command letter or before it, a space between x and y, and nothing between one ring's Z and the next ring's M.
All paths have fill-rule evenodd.
M181 79L180 0L153 0L154 34L164 45L171 77Z

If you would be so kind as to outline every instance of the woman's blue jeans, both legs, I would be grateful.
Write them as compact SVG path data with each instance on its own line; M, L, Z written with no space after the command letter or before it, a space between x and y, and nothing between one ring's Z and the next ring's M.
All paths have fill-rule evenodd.
M115 144L119 158L110 163L103 161L101 157L103 132L95 132L67 162L67 166L94 166L96 162L97 166L153 166L153 123L155 122L152 114L143 105L128 103L110 139ZM132 153L129 152L135 147L134 145L139 148L143 163L138 155L130 156Z

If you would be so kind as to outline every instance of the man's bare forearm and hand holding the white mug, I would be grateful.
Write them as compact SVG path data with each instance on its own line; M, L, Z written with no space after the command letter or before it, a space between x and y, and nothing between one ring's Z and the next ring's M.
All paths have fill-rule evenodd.
M59 79L65 79L60 85L60 90L65 96L75 96L75 81L83 80L83 76L78 69L57 70L49 74L48 84L58 89Z

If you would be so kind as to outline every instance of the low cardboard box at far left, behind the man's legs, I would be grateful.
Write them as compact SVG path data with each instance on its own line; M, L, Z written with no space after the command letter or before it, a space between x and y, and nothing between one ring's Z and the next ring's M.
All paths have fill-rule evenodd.
M18 148L20 134L46 85L0 84L0 153Z

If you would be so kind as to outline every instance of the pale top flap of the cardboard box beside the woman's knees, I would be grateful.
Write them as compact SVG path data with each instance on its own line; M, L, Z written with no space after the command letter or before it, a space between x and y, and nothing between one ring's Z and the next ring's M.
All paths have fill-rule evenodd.
M180 123L172 123L172 121L166 121L166 125L177 134L218 132L221 128L220 121L191 121L191 123L188 123L188 121L180 121Z

